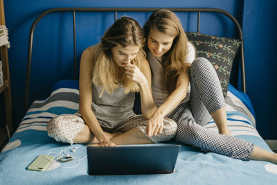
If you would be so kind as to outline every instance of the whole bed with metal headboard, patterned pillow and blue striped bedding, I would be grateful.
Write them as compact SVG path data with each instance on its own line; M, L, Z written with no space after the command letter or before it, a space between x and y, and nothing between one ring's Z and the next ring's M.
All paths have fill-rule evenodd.
M30 30L28 69L26 80L26 112L19 127L0 154L0 184L276 184L277 166L265 161L241 161L226 156L205 152L190 146L181 146L176 171L166 175L88 175L87 150L84 145L57 143L48 137L48 121L60 114L73 114L78 109L78 80L59 80L53 85L51 94L35 100L28 106L30 85L30 61L32 60L33 31L45 15L55 11L134 11L151 12L157 8L54 8L43 12ZM238 27L239 39L187 33L197 47L199 56L206 56L217 70L226 100L228 125L233 136L270 150L256 130L255 114L246 94L242 31L238 21L228 12L212 8L169 8L177 12L217 12L229 17ZM75 19L74 19L75 24ZM197 27L199 28L199 19ZM74 27L75 28L75 27ZM75 42L74 42L75 46ZM213 49L211 49L211 47ZM233 49L235 47L235 49ZM237 52L239 51L239 52ZM219 54L220 53L220 54ZM232 62L239 53L242 91L229 83ZM231 63L230 63L231 62ZM234 64L235 65L235 64ZM236 83L235 83L236 84ZM134 112L139 113L138 99ZM208 130L217 132L213 120L206 123ZM170 143L175 143L170 141ZM162 143L161 143L162 144ZM44 172L26 170L38 155L67 153L75 156L74 161L53 163ZM75 152L73 152L75 151ZM271 151L272 152L272 151ZM79 161L76 161L79 160Z

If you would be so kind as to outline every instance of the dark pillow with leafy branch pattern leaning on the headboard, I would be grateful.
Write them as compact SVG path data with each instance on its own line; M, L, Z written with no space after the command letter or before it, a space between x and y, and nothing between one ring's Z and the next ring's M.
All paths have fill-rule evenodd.
M208 59L217 71L223 95L226 96L233 59L240 48L240 39L217 37L201 33L186 33L197 49L197 57Z

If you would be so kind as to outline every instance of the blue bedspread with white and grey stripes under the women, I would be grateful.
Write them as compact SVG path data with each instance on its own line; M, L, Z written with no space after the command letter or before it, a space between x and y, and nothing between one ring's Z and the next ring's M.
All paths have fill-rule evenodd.
M240 100L240 97L243 100ZM242 98L244 97L244 98ZM242 101L244 103L242 103ZM277 165L265 161L241 161L215 153L181 146L176 172L166 175L88 175L87 150L83 145L69 146L48 137L46 124L58 114L73 114L78 109L78 82L61 81L46 100L37 100L24 116L17 132L0 154L0 184L276 184ZM249 98L229 88L226 97L228 124L234 136L269 147L255 128ZM211 120L205 125L217 132ZM71 148L79 146L75 152ZM37 155L55 155L65 150L82 159L67 162L45 172L26 170ZM159 155L159 154L157 154ZM54 165L54 164L53 164ZM75 166L71 168L72 166Z

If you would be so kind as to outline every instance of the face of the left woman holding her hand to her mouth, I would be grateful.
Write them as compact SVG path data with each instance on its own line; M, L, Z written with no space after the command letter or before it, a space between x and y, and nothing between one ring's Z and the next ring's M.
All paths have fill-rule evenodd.
M116 64L118 64L119 67L125 67L127 63L132 62L134 58L136 58L136 55L139 53L140 46L114 46L111 49L111 55L114 58L114 61Z

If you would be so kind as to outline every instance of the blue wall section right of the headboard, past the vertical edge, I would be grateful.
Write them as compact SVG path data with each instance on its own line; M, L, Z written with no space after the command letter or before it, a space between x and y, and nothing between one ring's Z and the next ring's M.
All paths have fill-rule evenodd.
M257 129L265 139L277 139L276 8L277 1L244 0L247 94L256 112Z

